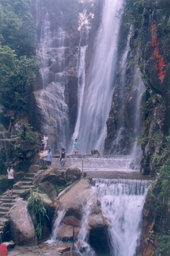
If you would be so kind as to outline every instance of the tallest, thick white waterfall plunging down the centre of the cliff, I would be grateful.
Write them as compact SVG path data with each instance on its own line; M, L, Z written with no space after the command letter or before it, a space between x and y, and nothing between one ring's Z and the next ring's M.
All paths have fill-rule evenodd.
M84 153L89 153L94 148L103 153L117 62L120 25L118 12L122 4L123 0L106 0L103 4L102 20L88 76L85 77L82 107L79 108L75 130Z

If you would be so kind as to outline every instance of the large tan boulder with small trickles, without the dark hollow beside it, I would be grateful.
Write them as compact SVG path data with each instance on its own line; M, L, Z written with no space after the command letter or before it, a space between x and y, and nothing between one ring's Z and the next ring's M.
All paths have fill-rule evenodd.
M61 239L72 238L73 227L75 237L78 236L85 214L86 223L84 225L89 231L97 228L102 231L109 226L102 215L97 193L92 189L90 181L87 179L75 182L68 191L54 200L54 205L59 211L65 212L56 233L56 236ZM57 218L59 219L59 217Z

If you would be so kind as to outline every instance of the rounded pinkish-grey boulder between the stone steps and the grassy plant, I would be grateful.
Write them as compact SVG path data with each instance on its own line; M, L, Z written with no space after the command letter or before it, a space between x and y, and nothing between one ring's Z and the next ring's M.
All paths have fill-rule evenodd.
M9 210L11 232L16 245L35 244L37 237L28 212L28 202L21 198Z

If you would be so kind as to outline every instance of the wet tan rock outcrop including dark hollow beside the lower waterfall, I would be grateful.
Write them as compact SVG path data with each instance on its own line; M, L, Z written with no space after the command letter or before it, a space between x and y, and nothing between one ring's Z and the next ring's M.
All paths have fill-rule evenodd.
M98 202L96 192L91 189L88 180L83 179L74 184L69 191L66 191L65 194L57 198L54 205L56 205L58 210L65 211L63 220L56 233L57 237L63 240L70 240L73 239L74 233L76 244L81 251L86 245L78 239L78 234L82 228L86 228L89 230L90 244L96 252L109 252L107 236L109 223L107 223L102 215L100 202ZM89 221L84 223L85 226L82 226L83 216L89 211L88 205L90 208Z

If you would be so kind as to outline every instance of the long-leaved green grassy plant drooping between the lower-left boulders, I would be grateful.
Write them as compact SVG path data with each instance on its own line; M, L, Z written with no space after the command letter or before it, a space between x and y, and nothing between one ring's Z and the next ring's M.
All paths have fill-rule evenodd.
M33 190L30 191L28 197L28 209L36 218L35 231L37 237L40 239L43 237L43 228L45 227L45 224L50 220L48 217L48 207L45 205L45 202L39 193L40 191L38 189L36 192Z

